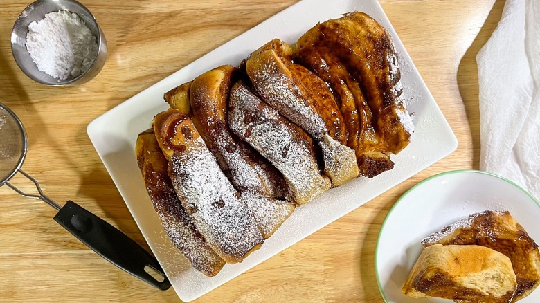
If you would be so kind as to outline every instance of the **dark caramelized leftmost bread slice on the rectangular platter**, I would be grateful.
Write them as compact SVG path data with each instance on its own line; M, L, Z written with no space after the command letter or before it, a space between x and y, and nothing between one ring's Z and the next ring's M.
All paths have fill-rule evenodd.
M153 129L138 135L136 155L154 210L159 214L172 244L195 269L209 277L217 275L225 261L208 246L174 192L167 172L168 161L159 148Z

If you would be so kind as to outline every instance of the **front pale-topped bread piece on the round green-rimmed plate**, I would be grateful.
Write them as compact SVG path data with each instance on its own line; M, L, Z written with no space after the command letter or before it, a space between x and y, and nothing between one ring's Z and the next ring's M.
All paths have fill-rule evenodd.
M512 302L516 275L501 252L476 245L424 248L402 291L411 297L456 302Z

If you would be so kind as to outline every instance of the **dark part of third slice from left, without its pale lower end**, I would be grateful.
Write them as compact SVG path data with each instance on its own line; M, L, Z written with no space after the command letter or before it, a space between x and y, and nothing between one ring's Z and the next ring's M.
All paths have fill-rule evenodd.
M192 81L191 120L217 159L219 167L239 192L287 196L285 178L249 144L228 128L227 103L237 68L219 66Z

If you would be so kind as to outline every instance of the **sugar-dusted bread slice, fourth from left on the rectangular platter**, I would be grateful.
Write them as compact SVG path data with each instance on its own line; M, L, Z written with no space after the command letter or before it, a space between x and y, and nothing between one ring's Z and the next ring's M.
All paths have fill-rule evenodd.
M228 122L231 130L257 149L285 176L296 203L306 203L330 187L318 174L316 160L297 131L279 113L244 85L231 89Z

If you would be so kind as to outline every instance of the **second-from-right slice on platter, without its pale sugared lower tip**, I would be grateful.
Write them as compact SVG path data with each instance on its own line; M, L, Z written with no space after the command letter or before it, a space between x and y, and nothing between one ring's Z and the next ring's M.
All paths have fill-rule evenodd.
M304 66L292 62L293 49L273 39L249 56L246 73L264 102L302 127L315 140L330 134L345 143L345 127L326 84Z

